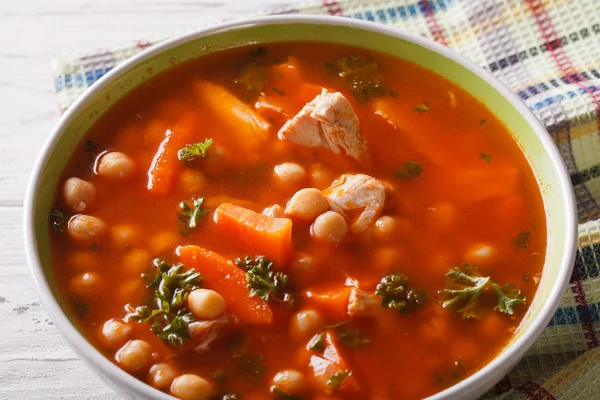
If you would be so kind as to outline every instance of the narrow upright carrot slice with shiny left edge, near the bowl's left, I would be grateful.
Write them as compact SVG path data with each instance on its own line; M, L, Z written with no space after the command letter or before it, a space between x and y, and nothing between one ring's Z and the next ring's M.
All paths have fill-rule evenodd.
M193 133L198 126L197 114L189 112L184 114L172 129L167 129L148 170L147 187L151 193L165 195L169 192L181 168L179 150L192 142Z

